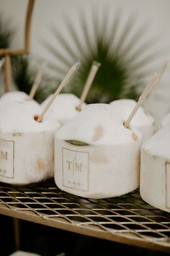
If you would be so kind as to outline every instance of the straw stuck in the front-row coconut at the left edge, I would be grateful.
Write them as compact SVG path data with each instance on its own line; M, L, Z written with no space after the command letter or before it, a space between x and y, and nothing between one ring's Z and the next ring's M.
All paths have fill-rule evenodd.
M59 85L59 87L57 88L57 90L55 91L55 93L53 94L53 97L50 98L50 101L48 101L47 105L45 106L45 108L43 109L42 113L40 114L40 116L38 116L36 121L42 121L42 117L45 115L45 113L48 111L48 108L51 106L51 104L53 103L53 101L55 100L55 98L57 97L58 93L61 92L61 90L63 89L63 87L71 80L71 78L73 77L74 74L76 74L76 71L79 69L81 65L80 61L77 61L75 64L73 64L73 66L71 67L71 69L69 69L68 73L66 74L66 77L63 79L63 81L61 82L61 85Z

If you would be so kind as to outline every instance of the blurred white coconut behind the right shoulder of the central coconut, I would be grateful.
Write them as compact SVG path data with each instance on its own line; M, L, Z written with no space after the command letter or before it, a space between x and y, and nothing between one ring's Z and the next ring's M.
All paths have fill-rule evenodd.
M124 121L128 119L136 102L129 99L112 101L110 105L114 110L114 114L122 116ZM130 122L130 127L137 128L143 135L143 142L148 140L155 132L155 120L150 114L146 114L143 107L138 108L137 113Z

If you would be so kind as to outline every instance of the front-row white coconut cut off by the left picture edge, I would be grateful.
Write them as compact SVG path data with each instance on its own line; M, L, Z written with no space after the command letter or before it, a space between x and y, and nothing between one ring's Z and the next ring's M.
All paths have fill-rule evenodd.
M0 109L0 182L30 184L53 176L57 121L35 121L40 106L11 102Z

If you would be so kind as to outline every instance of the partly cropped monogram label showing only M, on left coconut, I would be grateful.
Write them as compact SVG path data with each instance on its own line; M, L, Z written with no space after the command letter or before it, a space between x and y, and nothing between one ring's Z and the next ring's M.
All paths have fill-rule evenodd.
M14 178L13 140L0 140L0 176Z

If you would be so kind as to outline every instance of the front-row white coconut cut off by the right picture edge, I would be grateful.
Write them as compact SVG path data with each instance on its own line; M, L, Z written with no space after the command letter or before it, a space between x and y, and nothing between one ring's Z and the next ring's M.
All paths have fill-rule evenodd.
M140 195L156 208L170 213L170 124L142 147Z

